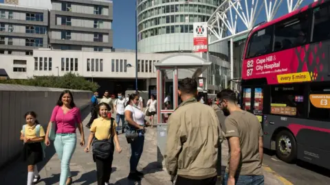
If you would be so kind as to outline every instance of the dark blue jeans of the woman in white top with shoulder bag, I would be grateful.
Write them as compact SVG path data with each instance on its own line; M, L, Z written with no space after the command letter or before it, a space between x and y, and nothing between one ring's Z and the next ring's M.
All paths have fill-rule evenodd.
M144 145L144 136L138 136L131 143L132 155L129 160L131 172L136 171L137 164L140 161Z

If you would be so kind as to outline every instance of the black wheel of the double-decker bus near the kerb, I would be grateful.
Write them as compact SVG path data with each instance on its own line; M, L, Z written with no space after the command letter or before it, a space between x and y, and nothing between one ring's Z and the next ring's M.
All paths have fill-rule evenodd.
M276 155L284 162L292 163L297 158L297 143L291 132L282 130L276 136Z

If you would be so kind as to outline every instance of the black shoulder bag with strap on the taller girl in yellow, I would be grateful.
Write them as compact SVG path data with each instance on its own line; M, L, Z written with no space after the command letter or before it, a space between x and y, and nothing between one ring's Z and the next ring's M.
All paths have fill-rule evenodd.
M110 126L110 138L105 140L98 140L98 138L94 138L93 142L93 154L96 158L107 159L113 155L113 151L115 151L115 145L113 144L113 120L111 119Z

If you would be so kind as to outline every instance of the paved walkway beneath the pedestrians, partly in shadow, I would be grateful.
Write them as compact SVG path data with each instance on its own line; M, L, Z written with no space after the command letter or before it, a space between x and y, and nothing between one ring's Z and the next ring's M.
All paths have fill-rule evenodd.
M85 111L85 125L90 118L89 112ZM87 116L88 115L88 116ZM89 131L85 129L85 140L89 136ZM127 180L129 174L129 158L131 156L130 145L126 142L124 134L119 135L120 146L122 147L122 153L114 154L113 158L113 172L111 173L110 183L111 184L157 184L157 185L170 185L170 177L157 162L157 129L148 127L146 129L144 151L140 159L140 163L137 167L138 170L142 171L145 175L141 182L131 182ZM77 134L77 147L72 157L70 169L73 175L73 184L96 184L96 164L94 163L91 153L85 153L80 147L78 142L80 140L80 134ZM39 184L58 184L58 180L61 172L61 163L57 158L54 151L54 145L47 148L47 158L44 162L38 165L41 182ZM228 161L228 145L227 141L222 144L221 162L223 166ZM223 173L225 167L222 167ZM265 175L265 184L292 184L285 177L278 175L275 171L270 169L268 164L263 164L263 171ZM292 172L294 173L294 172ZM21 158L12 162L12 164L1 169L0 171L0 184L26 184L27 178L27 167L23 163Z

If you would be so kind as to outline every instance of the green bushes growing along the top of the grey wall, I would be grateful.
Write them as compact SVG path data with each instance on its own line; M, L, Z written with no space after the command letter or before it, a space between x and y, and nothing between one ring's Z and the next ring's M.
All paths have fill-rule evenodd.
M17 84L23 86L40 86L51 88L66 88L75 90L91 90L96 91L100 86L96 82L90 82L85 77L75 73L66 73L62 77L51 76L34 76L29 79L3 79L0 84Z

